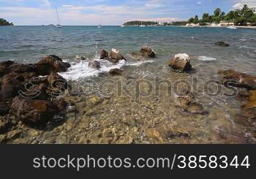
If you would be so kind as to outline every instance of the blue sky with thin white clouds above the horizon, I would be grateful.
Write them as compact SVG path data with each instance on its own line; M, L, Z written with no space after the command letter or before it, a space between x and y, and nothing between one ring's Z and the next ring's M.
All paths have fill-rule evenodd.
M130 20L170 22L187 20L203 12L238 9L243 4L256 6L256 0L0 0L0 18L17 26L121 25Z

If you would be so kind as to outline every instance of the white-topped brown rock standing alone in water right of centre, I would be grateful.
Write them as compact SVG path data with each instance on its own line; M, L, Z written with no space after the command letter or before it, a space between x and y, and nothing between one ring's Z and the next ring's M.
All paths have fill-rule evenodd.
M179 53L174 56L174 58L170 59L169 66L182 72L187 72L192 69L190 58L186 53Z

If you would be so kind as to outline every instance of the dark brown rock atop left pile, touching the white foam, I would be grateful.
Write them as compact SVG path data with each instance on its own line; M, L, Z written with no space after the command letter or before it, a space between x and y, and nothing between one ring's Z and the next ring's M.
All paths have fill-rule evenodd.
M44 58L41 58L35 67L37 68L39 75L50 75L50 72L67 72L67 69L71 65L69 63L65 63L58 56L50 55Z

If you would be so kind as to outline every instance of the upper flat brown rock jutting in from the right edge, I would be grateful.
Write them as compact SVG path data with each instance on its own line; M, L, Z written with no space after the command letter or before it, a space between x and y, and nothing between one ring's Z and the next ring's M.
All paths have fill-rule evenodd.
M219 71L218 73L222 75L224 82L228 83L228 85L246 88L249 90L256 90L256 77L254 76L236 72L232 69L227 71Z

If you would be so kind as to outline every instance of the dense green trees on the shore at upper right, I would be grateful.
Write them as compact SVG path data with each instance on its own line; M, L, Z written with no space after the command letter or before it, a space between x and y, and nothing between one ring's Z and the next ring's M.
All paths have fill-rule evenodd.
M246 26L247 23L256 26L256 14L245 4L242 9L231 10L227 14L217 8L214 10L213 15L203 13L201 19L199 19L198 15L195 15L195 18L189 18L188 20L189 23L199 23L200 26L206 26L206 23L220 23L220 21L233 22L236 26Z

